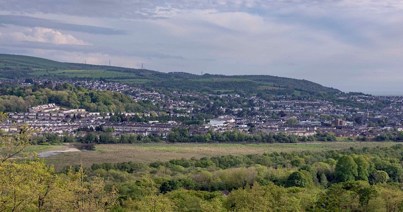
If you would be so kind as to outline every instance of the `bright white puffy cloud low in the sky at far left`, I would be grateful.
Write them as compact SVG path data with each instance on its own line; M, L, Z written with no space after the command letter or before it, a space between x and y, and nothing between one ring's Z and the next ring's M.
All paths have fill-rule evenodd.
M88 42L75 38L70 34L62 34L60 31L35 27L27 28L23 32L11 32L0 35L8 40L15 41L31 41L52 44L65 44L65 45L91 45Z

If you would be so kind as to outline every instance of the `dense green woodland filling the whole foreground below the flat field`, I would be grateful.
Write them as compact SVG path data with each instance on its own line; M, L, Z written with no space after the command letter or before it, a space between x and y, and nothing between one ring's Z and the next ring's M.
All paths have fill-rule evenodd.
M401 211L403 145L65 167L11 160L26 126L4 135L5 211ZM226 196L228 194L228 196Z

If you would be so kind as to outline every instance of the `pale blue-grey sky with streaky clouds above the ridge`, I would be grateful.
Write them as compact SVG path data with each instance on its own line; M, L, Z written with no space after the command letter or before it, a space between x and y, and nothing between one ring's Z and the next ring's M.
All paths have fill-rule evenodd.
M0 53L403 94L403 1L0 0Z

